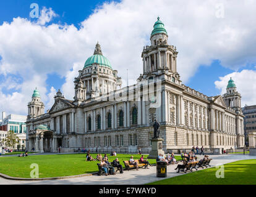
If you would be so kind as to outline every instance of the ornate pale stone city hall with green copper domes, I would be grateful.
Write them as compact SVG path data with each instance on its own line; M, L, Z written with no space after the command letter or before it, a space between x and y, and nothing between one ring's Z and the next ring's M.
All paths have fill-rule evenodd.
M28 103L27 147L35 151L143 153L151 150L153 122L160 123L163 150L244 147L241 95L230 79L223 96L207 95L182 84L177 50L168 44L160 18L142 51L143 73L121 89L117 70L103 56L100 44L74 80L74 100L57 92L45 113L38 90ZM139 55L139 54L138 54ZM138 65L139 66L139 65Z

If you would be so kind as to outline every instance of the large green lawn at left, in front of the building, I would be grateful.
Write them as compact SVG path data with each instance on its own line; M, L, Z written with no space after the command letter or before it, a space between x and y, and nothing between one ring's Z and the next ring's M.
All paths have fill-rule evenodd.
M96 154L91 154L96 158ZM30 165L36 163L39 166L39 178L43 177L62 177L68 175L87 174L98 172L96 163L99 161L85 161L86 154L69 154L69 155L28 155L27 157L1 157L0 172L11 177L30 178ZM103 155L104 156L104 155ZM120 164L122 161L129 160L131 155L117 154ZM140 155L133 155L134 159L139 159ZM116 157L109 156L109 162ZM147 158L147 155L144 156ZM180 156L176 156L180 159ZM151 164L156 163L156 159L148 159Z

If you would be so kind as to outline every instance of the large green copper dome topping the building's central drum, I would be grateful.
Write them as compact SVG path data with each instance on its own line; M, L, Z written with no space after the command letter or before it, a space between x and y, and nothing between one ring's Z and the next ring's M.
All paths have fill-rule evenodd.
M83 68L92 66L93 63L98 63L98 65L107 66L112 69L109 60L103 56L100 44L98 43L96 44L94 54L86 60L85 66Z

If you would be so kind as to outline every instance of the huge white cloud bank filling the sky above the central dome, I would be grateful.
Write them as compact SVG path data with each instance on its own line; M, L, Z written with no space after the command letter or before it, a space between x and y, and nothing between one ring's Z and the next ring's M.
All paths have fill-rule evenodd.
M126 84L127 68L129 78L137 79L142 73L140 55L143 46L150 43L150 33L158 15L168 31L169 44L177 46L179 51L177 70L185 83L199 65L209 65L217 58L223 66L233 70L255 63L256 2L221 3L223 18L216 15L216 5L220 4L216 1L110 2L95 9L81 22L79 29L74 25L54 23L45 26L56 17L52 9L43 9L38 22L14 18L11 23L0 26L0 73L6 76L19 74L23 79L15 93L23 95L24 109L34 88L26 86L28 83L35 86L33 76L41 80L40 93L44 102L49 102L48 96L51 96L46 95L46 74L54 72L66 77L62 90L66 98L72 99L74 77L78 70L82 70L83 63L93 54L96 41L99 41L103 55L108 57ZM17 99L13 100L13 105L22 105L17 94L2 97L10 96ZM15 111L19 107L12 109Z

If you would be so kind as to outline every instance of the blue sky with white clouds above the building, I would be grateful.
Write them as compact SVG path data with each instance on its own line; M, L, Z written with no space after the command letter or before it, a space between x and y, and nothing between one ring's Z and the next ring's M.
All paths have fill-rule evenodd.
M74 78L97 41L123 84L128 70L132 85L158 16L186 86L219 95L232 77L242 106L255 105L255 7L252 0L0 1L0 110L27 115L35 87L45 111L58 89L72 99Z

